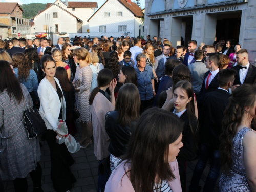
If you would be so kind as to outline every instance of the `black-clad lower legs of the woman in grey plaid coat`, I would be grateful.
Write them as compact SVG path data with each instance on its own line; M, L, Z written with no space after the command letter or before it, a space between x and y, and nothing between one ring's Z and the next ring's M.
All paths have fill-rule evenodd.
M42 186L42 168L41 165L37 162L35 170L29 173L33 181L34 188L39 188ZM14 189L16 192L27 192L28 191L28 182L27 178L16 178L13 180ZM2 191L2 190L1 190Z

